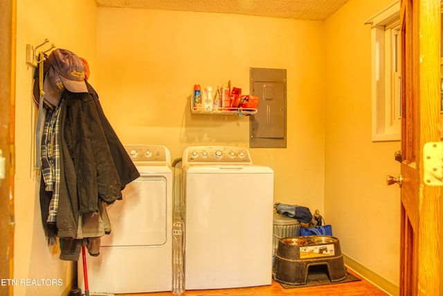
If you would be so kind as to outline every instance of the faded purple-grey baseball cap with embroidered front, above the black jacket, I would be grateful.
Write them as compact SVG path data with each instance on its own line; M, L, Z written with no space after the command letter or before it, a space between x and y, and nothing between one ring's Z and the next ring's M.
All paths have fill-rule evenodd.
M48 56L48 60L69 92L88 92L84 82L84 62L78 55L67 49L55 49Z

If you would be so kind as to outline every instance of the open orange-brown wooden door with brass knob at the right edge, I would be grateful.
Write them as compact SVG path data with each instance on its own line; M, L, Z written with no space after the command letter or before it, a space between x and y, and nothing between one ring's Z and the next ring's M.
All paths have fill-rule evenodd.
M439 295L440 186L423 148L440 142L440 0L401 0L401 39L400 295Z

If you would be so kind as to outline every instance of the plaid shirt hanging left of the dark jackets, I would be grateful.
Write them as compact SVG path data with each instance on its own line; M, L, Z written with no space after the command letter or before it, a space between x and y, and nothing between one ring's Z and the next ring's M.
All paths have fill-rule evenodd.
M60 105L59 105L60 106ZM60 107L48 110L42 134L42 175L45 191L52 191L47 223L57 221L60 189Z

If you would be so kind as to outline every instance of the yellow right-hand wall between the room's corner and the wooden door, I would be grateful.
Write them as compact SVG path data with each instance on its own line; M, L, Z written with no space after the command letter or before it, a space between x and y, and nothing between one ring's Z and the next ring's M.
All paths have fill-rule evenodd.
M325 22L325 217L343 252L399 282L399 141L371 141L372 17L392 0L352 0Z

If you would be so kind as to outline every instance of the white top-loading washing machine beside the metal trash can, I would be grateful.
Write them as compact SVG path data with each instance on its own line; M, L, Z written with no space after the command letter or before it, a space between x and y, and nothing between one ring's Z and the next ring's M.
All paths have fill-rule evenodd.
M273 178L247 148L183 151L186 290L270 285Z

